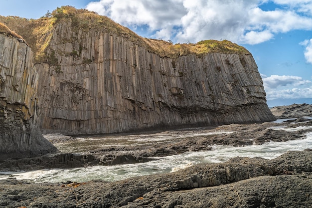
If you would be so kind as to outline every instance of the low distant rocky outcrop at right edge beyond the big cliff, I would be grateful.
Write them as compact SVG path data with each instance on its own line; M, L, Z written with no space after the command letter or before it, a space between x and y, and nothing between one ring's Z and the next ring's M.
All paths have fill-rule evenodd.
M272 108L271 112L277 119L312 116L312 105L304 103L287 106L277 106Z

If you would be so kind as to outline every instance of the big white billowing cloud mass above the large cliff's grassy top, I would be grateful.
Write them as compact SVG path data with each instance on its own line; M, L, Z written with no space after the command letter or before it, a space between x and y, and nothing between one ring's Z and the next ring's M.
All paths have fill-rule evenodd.
M259 7L269 1L280 8ZM312 29L312 0L100 0L86 8L175 42L228 39L258 44L280 32Z

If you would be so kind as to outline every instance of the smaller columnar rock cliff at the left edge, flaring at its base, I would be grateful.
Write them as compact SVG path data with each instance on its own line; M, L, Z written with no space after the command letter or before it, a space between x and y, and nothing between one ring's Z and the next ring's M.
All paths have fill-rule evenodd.
M30 47L0 33L0 160L56 151L37 123L38 79Z

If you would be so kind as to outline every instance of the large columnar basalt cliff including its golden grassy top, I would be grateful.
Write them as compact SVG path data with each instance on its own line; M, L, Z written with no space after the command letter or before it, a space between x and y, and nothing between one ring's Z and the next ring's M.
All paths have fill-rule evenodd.
M70 6L23 21L37 35L25 39L36 52L42 129L94 134L275 120L252 55L229 41L173 45Z

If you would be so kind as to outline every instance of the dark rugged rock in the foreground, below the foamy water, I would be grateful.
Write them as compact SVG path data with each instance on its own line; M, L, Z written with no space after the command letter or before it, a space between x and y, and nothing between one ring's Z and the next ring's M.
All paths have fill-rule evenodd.
M170 174L107 183L33 184L7 179L0 207L307 208L312 206L312 151L274 160L234 158Z

